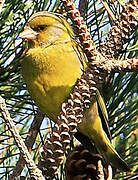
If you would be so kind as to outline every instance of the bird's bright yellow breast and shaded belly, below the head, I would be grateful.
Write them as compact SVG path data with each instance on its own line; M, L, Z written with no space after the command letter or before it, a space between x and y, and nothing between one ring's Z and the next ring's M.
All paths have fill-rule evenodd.
M28 90L49 118L54 121L72 87L82 74L73 42L29 49L22 63Z

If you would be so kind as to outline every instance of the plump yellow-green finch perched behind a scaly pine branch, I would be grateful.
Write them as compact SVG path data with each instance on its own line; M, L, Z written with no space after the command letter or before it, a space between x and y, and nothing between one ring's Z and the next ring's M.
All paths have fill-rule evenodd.
M22 60L27 89L40 110L56 123L61 104L87 68L86 55L61 14L34 13L19 37L28 42ZM126 162L111 144L106 106L98 90L96 94L78 126L78 133L94 142L108 164L128 171Z

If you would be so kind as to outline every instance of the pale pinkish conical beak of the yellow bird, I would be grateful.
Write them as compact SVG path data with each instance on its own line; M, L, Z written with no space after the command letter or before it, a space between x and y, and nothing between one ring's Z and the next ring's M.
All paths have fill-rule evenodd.
M19 34L19 38L22 39L36 39L38 36L38 33L33 31L31 28L26 27L23 32Z

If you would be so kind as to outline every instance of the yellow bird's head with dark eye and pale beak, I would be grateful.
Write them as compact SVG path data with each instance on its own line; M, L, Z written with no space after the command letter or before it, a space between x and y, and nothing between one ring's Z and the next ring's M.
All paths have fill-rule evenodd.
M70 41L71 26L65 18L47 11L37 12L29 19L19 37L27 39L31 46L48 46L57 42Z

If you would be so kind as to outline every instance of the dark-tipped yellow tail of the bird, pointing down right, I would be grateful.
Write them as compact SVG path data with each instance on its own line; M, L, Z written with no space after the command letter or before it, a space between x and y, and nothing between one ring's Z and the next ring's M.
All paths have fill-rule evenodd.
M106 133L104 132L104 141L103 143L97 144L97 149L99 153L103 156L105 161L111 164L113 167L117 169L128 171L128 165L125 161L119 156L111 142L109 141Z

